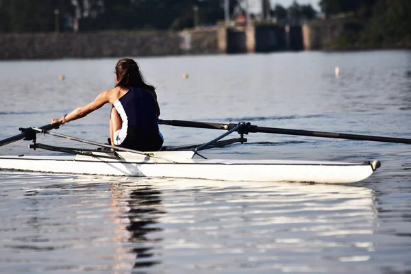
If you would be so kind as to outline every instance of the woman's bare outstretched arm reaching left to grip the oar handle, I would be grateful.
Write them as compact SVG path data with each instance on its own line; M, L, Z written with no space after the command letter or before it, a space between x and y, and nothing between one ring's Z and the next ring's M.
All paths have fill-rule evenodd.
M63 118L60 119L52 119L51 123L60 123L60 125L64 125L64 123L68 123L69 121L80 119L91 112L98 110L101 108L105 103L109 102L110 98L110 90L105 90L101 92L94 101L88 103L87 105L83 105L79 108L76 108L69 114L66 114Z

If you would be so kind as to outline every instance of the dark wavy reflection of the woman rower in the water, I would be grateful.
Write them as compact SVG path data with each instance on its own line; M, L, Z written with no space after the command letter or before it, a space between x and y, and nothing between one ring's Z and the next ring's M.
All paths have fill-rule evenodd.
M161 264L155 249L162 238L153 236L162 232L159 219L163 210L161 192L149 184L116 182L112 184L110 207L115 212L112 222L116 224L115 239L123 248L116 249L113 269L131 270Z

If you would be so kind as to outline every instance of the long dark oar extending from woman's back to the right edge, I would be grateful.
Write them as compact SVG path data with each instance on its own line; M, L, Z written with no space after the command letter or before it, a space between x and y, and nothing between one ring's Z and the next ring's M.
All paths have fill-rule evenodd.
M176 127L196 127L204 129L225 129L230 130L236 127L238 124L222 124L222 123L208 123L208 122L195 122L195 121L181 121L181 120L159 120L160 125L173 125ZM365 141L375 141L375 142L398 142L401 144L411 144L411 139L406 138L393 138L384 136L370 136L370 135L359 135L359 134L344 134L336 132L313 132L310 130L299 130L299 129L283 129L277 127L258 127L257 125L245 124L245 127L240 128L240 133L247 134L248 132L260 132L260 133L270 133L270 134L286 134L286 135L297 135L297 136L313 136L313 137L323 137L323 138L338 138L338 139L349 139L349 140L365 140Z

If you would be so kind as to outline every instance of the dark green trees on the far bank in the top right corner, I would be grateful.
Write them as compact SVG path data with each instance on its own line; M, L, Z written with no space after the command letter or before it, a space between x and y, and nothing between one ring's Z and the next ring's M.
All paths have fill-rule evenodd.
M337 47L411 47L410 0L321 0L327 18L356 18L358 29L344 32Z

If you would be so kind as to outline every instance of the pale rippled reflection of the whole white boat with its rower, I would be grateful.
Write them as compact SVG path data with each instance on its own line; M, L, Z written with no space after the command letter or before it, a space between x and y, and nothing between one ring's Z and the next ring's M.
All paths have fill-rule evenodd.
M351 267L347 262L375 269L377 214L368 188L1 172L0 177L7 193L2 201L14 208L10 216L2 212L8 221L0 223L5 273L236 273L249 267L332 273Z

